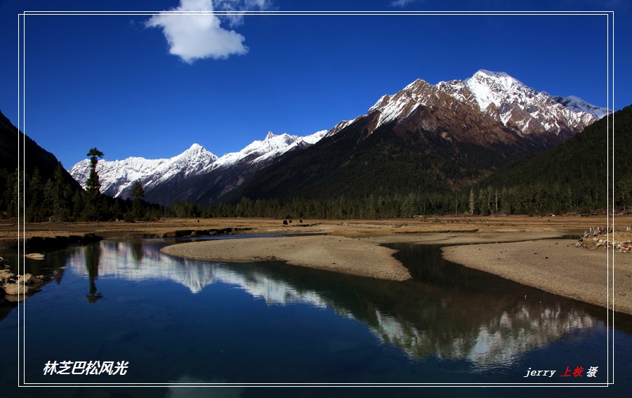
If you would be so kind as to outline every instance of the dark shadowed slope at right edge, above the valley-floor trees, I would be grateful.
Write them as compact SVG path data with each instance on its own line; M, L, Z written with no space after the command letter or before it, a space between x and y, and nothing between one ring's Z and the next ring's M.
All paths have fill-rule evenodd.
M593 195L596 202L600 196L598 203L603 207L605 198L614 194L615 208L629 208L632 206L631 142L632 105L628 105L556 147L508 164L483 180L480 187L501 189L532 185L543 191L542 197L565 195L569 201ZM607 192L609 180L614 187L610 194Z

